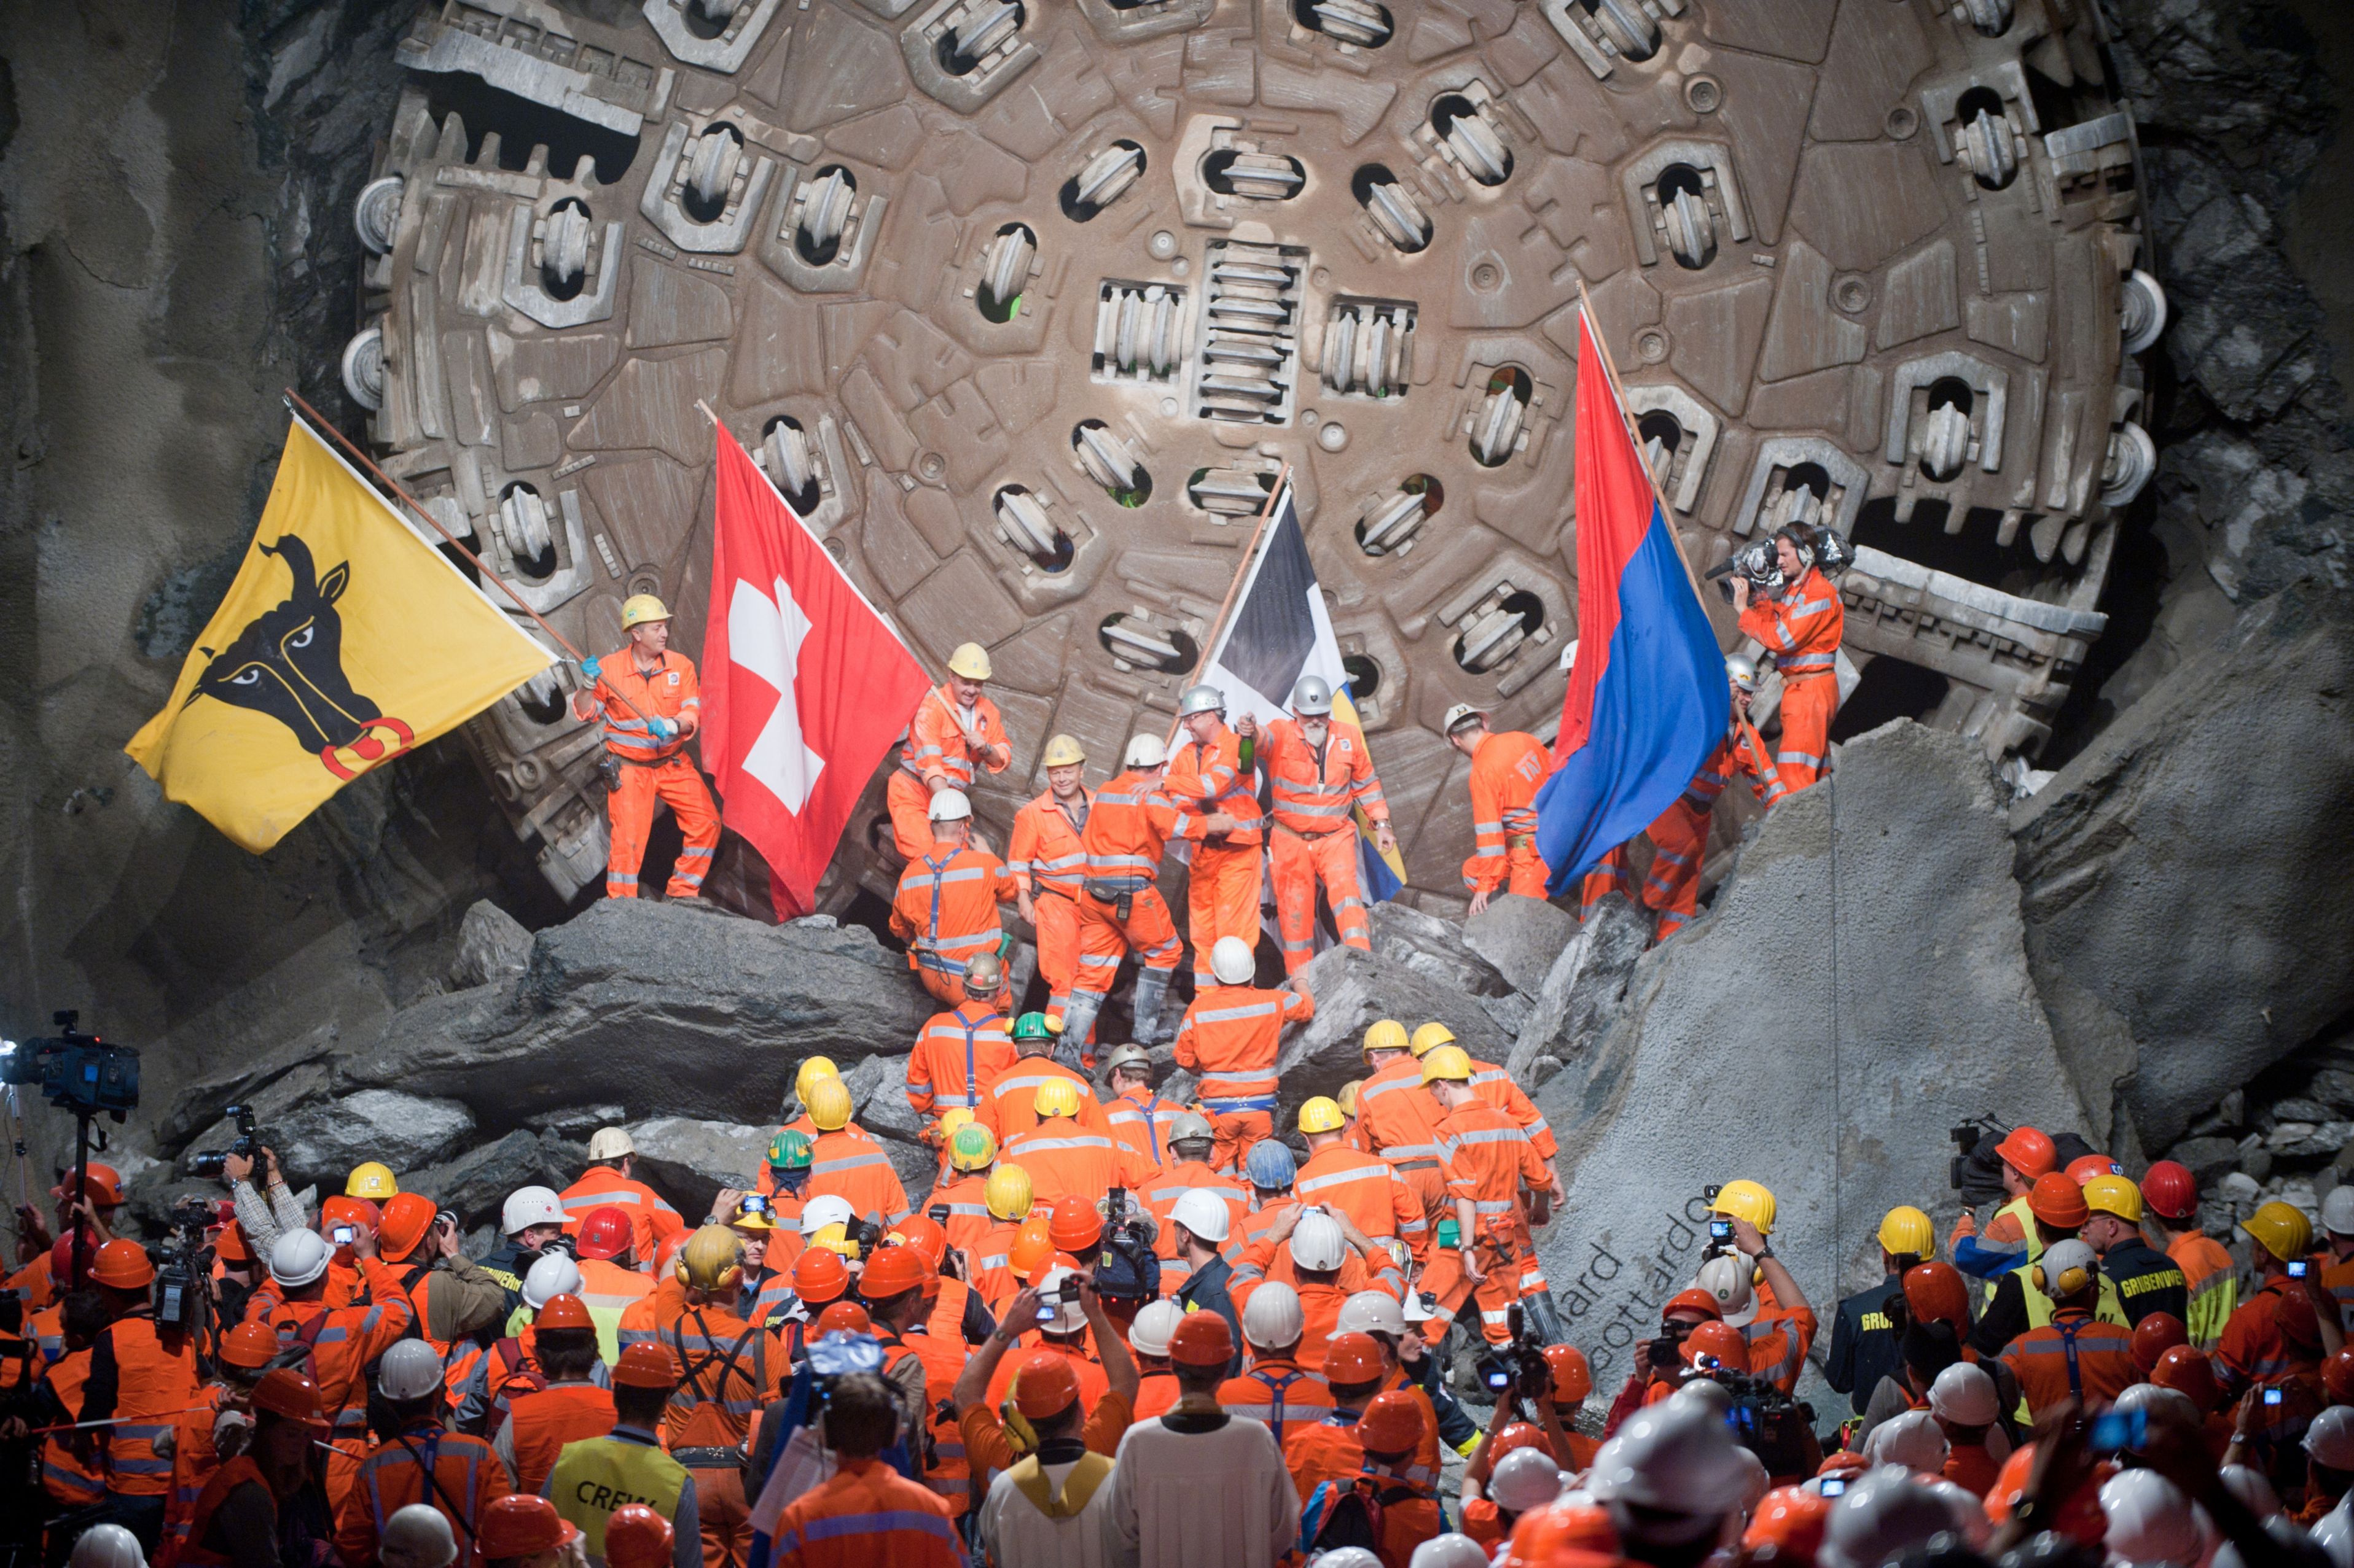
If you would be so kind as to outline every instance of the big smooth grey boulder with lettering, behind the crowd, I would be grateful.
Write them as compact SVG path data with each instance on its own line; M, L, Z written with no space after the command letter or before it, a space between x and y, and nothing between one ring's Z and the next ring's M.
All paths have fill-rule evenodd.
M1834 1290L1881 1276L1890 1203L1956 1212L1959 1116L2083 1125L1980 749L1909 720L1848 744L1763 819L1709 916L1634 965L1598 1050L1537 1107L1570 1184L1540 1257L1596 1387L1693 1278L1709 1187L1780 1196L1775 1250L1829 1323Z

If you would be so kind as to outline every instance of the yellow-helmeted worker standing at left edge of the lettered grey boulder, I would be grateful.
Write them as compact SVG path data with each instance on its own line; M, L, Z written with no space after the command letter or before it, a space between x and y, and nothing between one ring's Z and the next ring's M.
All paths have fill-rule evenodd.
M1436 1227L1431 1264L1422 1274L1422 1290L1436 1297L1431 1321L1445 1333L1462 1304L1476 1297L1481 1333L1490 1344L1504 1344L1511 1337L1507 1311L1521 1300L1521 1236L1544 1224L1551 1172L1518 1123L1471 1088L1471 1057L1459 1045L1438 1045L1422 1057L1422 1085L1445 1109L1438 1158L1455 1220L1452 1227ZM1523 1187L1535 1194L1537 1215L1523 1208Z

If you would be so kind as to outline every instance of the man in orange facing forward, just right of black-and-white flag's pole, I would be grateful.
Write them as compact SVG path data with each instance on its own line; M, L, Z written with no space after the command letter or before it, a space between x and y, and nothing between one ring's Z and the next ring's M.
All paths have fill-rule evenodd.
M1323 883L1339 939L1372 951L1349 812L1365 812L1384 855L1398 848L1398 836L1389 831L1389 803L1372 775L1365 732L1332 718L1332 687L1323 676L1299 678L1292 718L1266 725L1264 739L1250 713L1233 730L1243 737L1245 763L1262 768L1274 786L1276 930L1285 972L1297 975L1316 956L1316 883Z

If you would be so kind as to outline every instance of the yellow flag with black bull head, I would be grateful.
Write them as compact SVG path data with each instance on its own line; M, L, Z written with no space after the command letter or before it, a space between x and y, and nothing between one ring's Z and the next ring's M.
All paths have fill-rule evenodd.
M299 419L195 643L125 751L254 852L556 662Z

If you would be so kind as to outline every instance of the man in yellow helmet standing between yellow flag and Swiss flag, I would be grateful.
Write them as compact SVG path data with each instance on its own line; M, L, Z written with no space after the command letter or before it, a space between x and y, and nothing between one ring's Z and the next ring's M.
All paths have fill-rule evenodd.
M621 600L621 633L629 638L621 650L581 659L588 690L572 695L574 718L605 720L605 753L612 758L605 772L614 779L605 798L612 817L605 897L638 897L638 862L661 800L685 838L664 897L692 899L711 873L711 852L720 848L720 808L685 756L704 723L704 687L694 678L694 659L671 652L671 612L652 593Z

